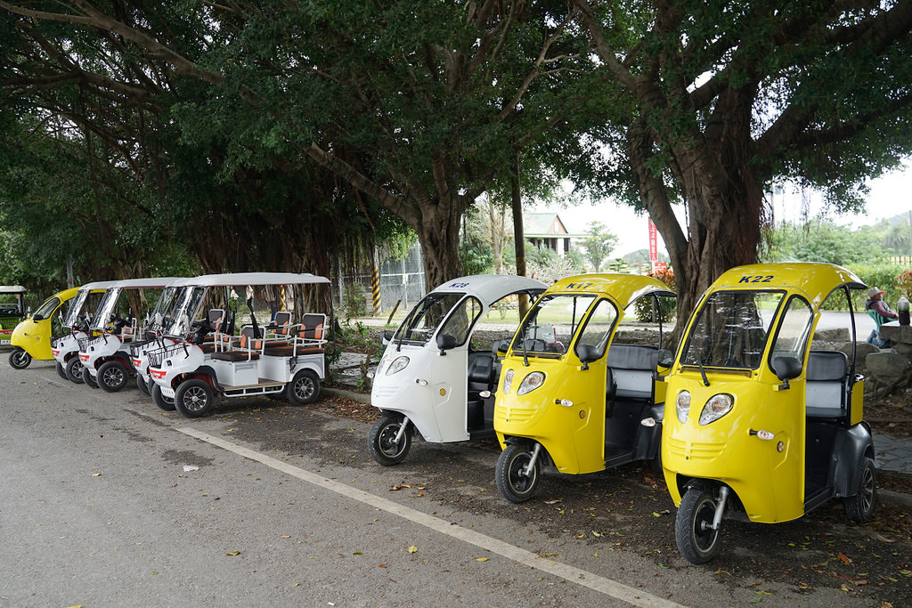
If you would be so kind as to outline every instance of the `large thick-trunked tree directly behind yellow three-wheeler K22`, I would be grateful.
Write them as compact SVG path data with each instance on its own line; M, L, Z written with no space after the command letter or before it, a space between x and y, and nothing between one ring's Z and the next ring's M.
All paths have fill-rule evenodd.
M912 150L910 0L572 4L635 108L613 132L668 247L679 312L756 261L771 180L858 209L865 179Z

